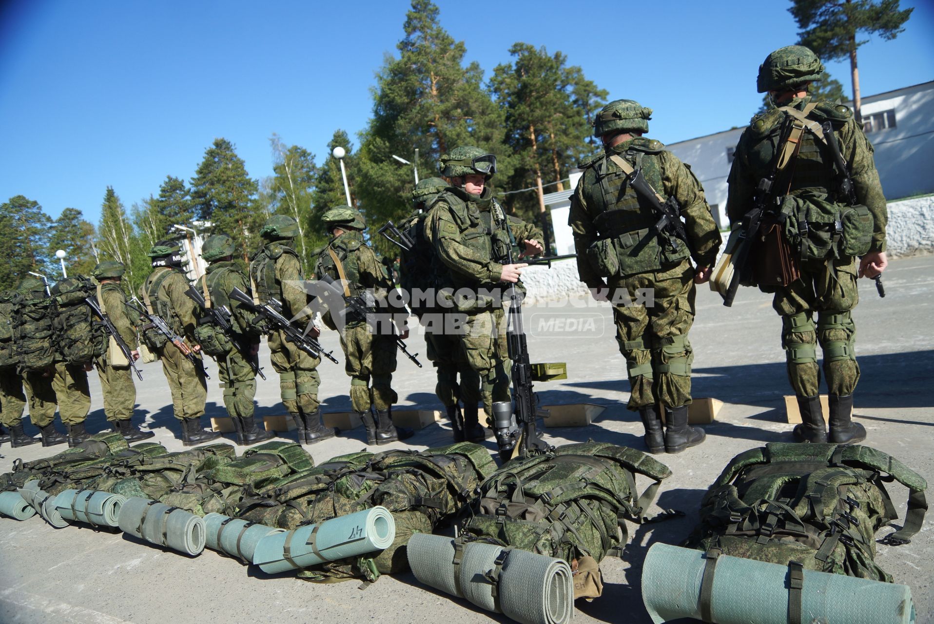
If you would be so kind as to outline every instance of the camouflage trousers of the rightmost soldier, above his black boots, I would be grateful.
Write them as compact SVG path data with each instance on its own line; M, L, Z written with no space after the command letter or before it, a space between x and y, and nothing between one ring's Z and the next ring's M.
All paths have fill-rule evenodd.
M856 390L856 324L852 310L859 302L856 258L802 262L801 277L774 292L771 306L782 317L788 380L795 394L820 393L817 344L824 354L824 376L830 394ZM765 289L763 289L765 290ZM816 313L816 325L814 316Z

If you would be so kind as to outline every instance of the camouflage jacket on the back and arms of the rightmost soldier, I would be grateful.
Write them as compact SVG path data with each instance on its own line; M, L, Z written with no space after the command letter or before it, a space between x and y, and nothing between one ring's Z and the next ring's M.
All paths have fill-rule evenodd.
M790 106L801 110L810 102L810 97L796 98ZM846 106L818 102L808 119L818 123L829 121L833 127L843 159L853 179L856 202L868 207L872 215L870 251L884 251L888 212L869 139L856 124L853 113ZM771 108L754 117L740 137L729 171L727 214L730 222L742 220L743 215L752 209L759 180L771 171L772 157L784 120L783 111ZM798 158L785 170L791 166L794 166L794 170L790 180L786 177L776 180L780 189L790 189L790 194L804 189L816 190L828 195L829 201L843 201L842 198L836 197L840 177L833 165L833 154L827 146L815 139L811 132L804 131Z

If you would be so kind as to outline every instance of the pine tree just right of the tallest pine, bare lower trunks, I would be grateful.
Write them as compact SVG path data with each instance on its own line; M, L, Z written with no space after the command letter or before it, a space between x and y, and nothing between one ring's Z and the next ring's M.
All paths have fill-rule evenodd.
M606 92L584 77L580 67L568 67L561 52L548 54L516 43L509 49L512 63L493 70L490 91L505 117L506 141L516 156L509 178L513 188L533 186L538 209L545 212L544 182L563 191L561 180L587 149L592 117ZM528 195L512 196L508 204L521 204Z

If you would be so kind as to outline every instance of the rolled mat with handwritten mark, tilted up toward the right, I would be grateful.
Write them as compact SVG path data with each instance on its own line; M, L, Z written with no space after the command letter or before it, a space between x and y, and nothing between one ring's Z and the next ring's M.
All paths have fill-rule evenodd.
M380 505L266 535L256 546L253 563L265 573L276 574L383 550L395 537L396 522L389 509Z

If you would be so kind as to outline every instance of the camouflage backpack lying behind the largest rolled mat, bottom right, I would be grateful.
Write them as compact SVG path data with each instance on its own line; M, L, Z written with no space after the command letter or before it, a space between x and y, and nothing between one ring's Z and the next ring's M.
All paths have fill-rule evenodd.
M907 544L924 522L925 479L875 448L774 443L729 462L701 502L701 523L683 546L891 583L874 561L875 533L898 518L884 482L911 490Z

